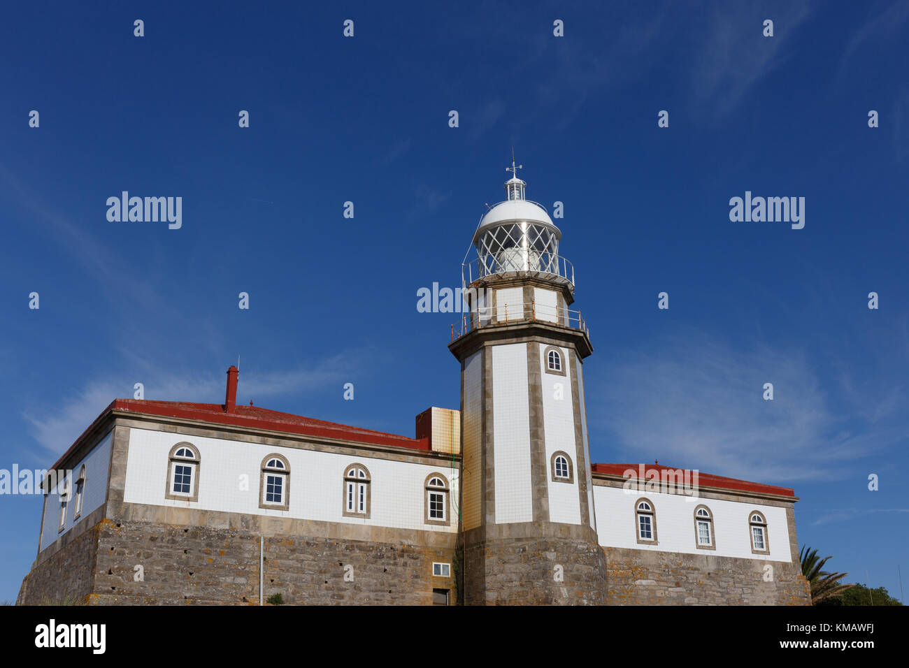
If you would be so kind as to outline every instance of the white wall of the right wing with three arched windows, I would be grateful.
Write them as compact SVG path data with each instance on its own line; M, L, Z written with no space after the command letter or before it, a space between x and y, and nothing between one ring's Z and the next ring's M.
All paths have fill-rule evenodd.
M655 506L657 545L637 543L634 508L645 496ZM608 547L657 550L716 556L791 562L789 529L784 508L760 503L702 499L684 494L660 494L621 487L594 487L599 542ZM694 508L704 503L714 515L715 550L699 550L694 542ZM751 552L751 511L764 513L770 539L770 554Z

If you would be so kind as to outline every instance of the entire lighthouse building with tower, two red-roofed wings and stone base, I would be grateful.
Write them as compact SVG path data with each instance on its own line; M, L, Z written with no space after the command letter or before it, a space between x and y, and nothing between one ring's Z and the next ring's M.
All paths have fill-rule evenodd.
M45 479L18 603L810 603L792 489L591 463L574 269L511 171L464 265L460 411L326 423L236 404L235 367L224 404L117 399Z

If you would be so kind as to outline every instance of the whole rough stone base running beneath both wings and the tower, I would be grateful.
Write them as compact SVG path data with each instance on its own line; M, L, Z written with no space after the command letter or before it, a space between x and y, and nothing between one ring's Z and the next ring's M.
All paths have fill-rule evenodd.
M257 604L258 558L259 534L242 528L105 519L42 553L16 603ZM451 563L451 577L434 577L433 562ZM287 604L429 604L434 587L456 603L461 574L454 547L265 537L265 598L280 593ZM463 574L473 604L810 603L797 563L601 548L578 537L475 540Z

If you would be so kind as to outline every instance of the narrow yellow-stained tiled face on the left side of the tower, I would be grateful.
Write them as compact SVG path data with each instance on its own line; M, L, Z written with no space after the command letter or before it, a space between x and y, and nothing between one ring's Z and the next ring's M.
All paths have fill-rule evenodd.
M464 529L480 525L483 512L483 352L464 363Z

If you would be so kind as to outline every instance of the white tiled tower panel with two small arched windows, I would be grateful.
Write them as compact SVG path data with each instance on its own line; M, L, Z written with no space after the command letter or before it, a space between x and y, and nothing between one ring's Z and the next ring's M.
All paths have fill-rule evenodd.
M543 381L543 428L546 447L546 480L549 483L549 519L552 522L567 524L581 523L581 503L578 500L578 476L584 471L577 469L577 448L574 445L574 404L572 402L572 370L568 368L568 351L559 348L562 353L562 365L566 375L546 372L544 350L549 346L540 346L540 377ZM558 398L561 397L561 398ZM571 457L574 470L574 481L556 483L552 475L552 456L562 450Z

